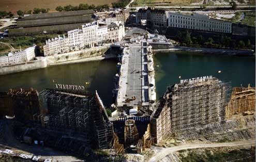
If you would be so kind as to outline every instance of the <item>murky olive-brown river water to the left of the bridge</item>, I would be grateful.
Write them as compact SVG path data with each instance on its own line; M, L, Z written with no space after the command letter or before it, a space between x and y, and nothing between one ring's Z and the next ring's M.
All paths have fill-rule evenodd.
M109 107L113 101L113 77L117 71L116 63L115 60L101 60L2 75L0 76L0 91L31 87L41 91L45 88L54 88L55 83L83 85L88 91L97 90L104 105ZM86 86L85 82L91 84Z

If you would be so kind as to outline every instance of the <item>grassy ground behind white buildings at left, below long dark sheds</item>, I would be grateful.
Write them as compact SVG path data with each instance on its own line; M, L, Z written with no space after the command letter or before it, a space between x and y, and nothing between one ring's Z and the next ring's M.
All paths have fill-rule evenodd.
M40 47L41 52L43 45L45 45L46 40L57 37L57 34L48 34L48 35L34 35L34 36L20 36L20 37L12 37L12 38L4 38L0 41L11 44L14 48L22 49L32 46L36 44Z

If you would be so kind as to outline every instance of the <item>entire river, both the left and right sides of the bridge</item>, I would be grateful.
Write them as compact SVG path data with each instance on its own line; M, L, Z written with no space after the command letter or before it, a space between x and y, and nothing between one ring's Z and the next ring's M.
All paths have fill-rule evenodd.
M213 75L231 85L255 86L255 57L223 56L213 54L157 53L154 56L156 91L159 98L166 87L182 79ZM117 72L115 60L101 60L65 64L44 69L0 76L0 91L10 88L54 88L54 83L84 85L98 91L104 105L112 103L113 77ZM158 66L157 66L158 65ZM218 71L221 73L218 73ZM54 80L54 83L53 83ZM86 87L86 86L85 86Z

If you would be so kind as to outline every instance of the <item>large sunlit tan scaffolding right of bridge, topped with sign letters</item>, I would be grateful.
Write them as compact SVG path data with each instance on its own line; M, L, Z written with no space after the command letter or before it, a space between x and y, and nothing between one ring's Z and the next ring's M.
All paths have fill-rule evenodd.
M230 91L230 83L212 76L180 80L168 87L151 116L154 142L173 133L189 134L190 130L225 121Z

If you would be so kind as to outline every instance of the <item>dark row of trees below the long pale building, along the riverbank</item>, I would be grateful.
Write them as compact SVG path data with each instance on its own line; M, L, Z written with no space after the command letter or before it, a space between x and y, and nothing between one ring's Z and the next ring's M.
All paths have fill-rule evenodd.
M191 37L191 33L178 32L175 39L180 45L195 46L195 47L213 47L213 48L232 48L232 49L252 49L251 41L232 40L228 36L220 36L218 38L209 37L205 39L202 35Z

